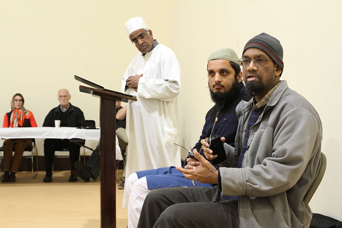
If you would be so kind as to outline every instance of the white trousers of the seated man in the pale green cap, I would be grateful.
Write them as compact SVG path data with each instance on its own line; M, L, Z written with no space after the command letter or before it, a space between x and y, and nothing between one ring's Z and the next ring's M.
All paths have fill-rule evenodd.
M138 179L135 172L125 179L124 184L128 198L128 228L136 228L146 195L152 190L147 188L146 177Z

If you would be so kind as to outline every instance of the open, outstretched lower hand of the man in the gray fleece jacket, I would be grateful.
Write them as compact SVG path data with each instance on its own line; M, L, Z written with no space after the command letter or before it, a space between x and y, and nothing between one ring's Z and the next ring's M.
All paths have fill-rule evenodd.
M194 151L193 154L200 165L196 166L194 169L176 168L181 171L187 179L197 180L200 183L218 184L218 170L197 151Z

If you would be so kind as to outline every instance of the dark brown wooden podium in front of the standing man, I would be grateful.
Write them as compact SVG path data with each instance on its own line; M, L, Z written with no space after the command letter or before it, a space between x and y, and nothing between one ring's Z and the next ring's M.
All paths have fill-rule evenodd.
M115 102L137 99L81 85L79 89L80 92L100 97L101 228L116 228Z

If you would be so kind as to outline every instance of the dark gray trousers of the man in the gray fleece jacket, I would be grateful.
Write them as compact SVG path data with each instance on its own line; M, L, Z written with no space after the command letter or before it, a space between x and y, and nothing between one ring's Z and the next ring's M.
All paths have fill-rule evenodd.
M238 201L221 201L218 186L175 187L149 193L138 228L239 228Z

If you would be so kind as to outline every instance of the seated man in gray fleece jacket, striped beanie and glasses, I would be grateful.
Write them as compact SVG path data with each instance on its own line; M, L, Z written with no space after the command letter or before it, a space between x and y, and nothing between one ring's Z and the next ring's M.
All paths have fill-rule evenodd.
M219 170L198 153L195 169L177 167L188 179L218 185L152 191L138 228L309 228L303 197L318 168L322 124L309 101L280 81L282 57L269 34L247 42L239 62L253 98L236 108L235 148L224 144ZM217 157L201 143L208 160Z

